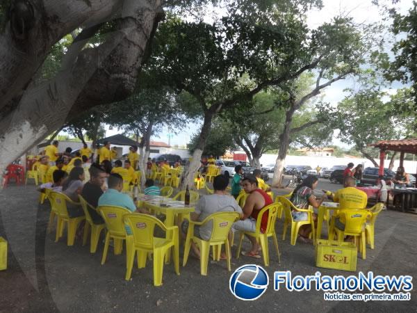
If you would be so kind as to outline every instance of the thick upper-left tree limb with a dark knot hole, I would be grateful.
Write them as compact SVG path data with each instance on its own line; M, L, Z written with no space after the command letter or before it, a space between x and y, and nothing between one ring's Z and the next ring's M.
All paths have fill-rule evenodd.
M23 1L20 1L22 4ZM0 110L3 116L17 105L24 89L49 54L51 47L79 26L97 24L122 6L122 0L24 1L31 15L11 10L5 30L0 34ZM8 106L6 111L3 109Z

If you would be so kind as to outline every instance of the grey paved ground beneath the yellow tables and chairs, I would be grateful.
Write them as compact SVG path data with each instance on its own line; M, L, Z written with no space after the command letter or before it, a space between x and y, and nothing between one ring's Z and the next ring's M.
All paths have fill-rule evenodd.
M330 188L330 187L334 188ZM318 188L336 190L340 186L320 181ZM417 307L417 293L411 301L325 301L322 291L274 291L274 271L295 275L357 275L357 273L317 268L314 247L281 240L282 220L277 221L281 264L270 242L270 286L259 300L238 300L229 291L230 274L224 261L210 262L208 275L199 275L199 261L190 258L181 275L172 264L165 265L163 286L152 284L152 262L133 268L126 282L126 257L113 255L100 265L103 244L91 255L88 246L76 241L67 247L66 236L54 242L54 233L45 232L49 205L38 206L33 186L10 186L0 193L0 236L9 241L8 269L0 271L0 312L411 312ZM366 260L358 259L357 271L375 275L417 277L417 216L382 211L376 224L375 250L367 249ZM247 241L243 249L249 248ZM182 250L180 254L182 255ZM232 248L232 271L261 260L241 256Z

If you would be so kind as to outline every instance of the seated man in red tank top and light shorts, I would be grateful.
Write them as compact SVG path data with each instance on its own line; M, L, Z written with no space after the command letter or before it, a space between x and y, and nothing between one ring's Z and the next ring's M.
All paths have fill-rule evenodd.
M256 220L258 219L259 211L264 207L272 204L272 199L262 189L258 187L258 180L254 175L247 175L242 180L243 190L249 193L247 196L245 206L243 207L243 216L234 223L234 230L241 230L243 232L255 232ZM261 232L265 232L268 225L268 213L263 214L261 220ZM256 239L252 236L247 236L252 243L252 249L247 252L242 252L243 255L260 259L259 249L261 248Z

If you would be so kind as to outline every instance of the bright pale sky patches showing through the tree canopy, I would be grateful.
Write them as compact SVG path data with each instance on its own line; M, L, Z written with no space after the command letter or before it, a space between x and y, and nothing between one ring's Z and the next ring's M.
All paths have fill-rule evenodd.
M391 0L388 0L391 3ZM382 1L383 2L383 1ZM411 8L413 1L412 0L402 0L398 3L400 11L402 13L407 13L407 10ZM354 17L356 22L378 22L382 15L379 13L379 9L376 6L373 6L371 0L323 0L324 8L322 10L315 10L309 13L307 23L311 28L316 28L320 26L323 22L329 22L334 16L339 13L349 13L350 16ZM389 47L387 47L389 50ZM353 85L354 81L352 79L346 79L345 81L337 81L332 86L329 86L322 92L322 97L324 102L329 102L332 105L336 105L343 97L343 89L349 88ZM403 86L400 83L394 83L389 92L395 93L397 88L402 88ZM189 123L181 130L176 130L177 134L174 134L171 138L171 145L185 145L190 141L190 136L197 133L201 123ZM107 130L106 135L112 136L118 134L117 129ZM164 127L159 137L154 137L152 140L168 142L167 135L169 134L168 127ZM341 143L337 138L333 139L335 145L340 145L342 147L347 147L347 145Z

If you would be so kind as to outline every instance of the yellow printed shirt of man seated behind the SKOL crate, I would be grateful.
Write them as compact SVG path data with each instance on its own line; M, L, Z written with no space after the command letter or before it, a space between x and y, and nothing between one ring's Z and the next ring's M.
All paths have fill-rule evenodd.
M339 211L347 209L366 209L368 196L366 193L357 188L346 187L336 191L336 193L334 193L333 200L334 202L338 202ZM345 224L344 216L341 216L340 220L341 223Z

